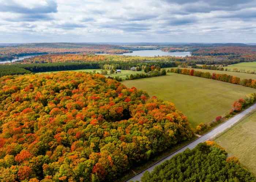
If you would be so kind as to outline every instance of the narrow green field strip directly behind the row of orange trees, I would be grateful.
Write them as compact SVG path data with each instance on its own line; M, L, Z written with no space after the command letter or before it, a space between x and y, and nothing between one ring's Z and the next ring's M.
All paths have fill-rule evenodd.
M240 64L240 63L239 63ZM175 68L180 68L180 69L184 69L181 67L175 67ZM230 67L224 67L225 68L230 68ZM166 70L170 70L171 68L165 68ZM227 75L231 75L231 76L237 76L239 77L241 80L242 79L253 79L256 80L256 74L248 74L248 73L240 73L240 72L233 72L233 71L219 71L219 70L204 70L204 69L196 69L196 68L186 68L186 69L194 69L196 71L202 71L202 72L209 72L209 73L217 73L217 74L227 74ZM233 70L233 68L231 69Z

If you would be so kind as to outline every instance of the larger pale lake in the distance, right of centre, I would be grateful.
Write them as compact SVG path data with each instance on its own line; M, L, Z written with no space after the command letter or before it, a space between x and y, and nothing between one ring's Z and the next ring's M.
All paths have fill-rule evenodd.
M143 50L143 51L133 51L131 53L124 53L120 55L126 56L142 56L142 57L154 57L154 56L175 56L175 57L185 57L190 56L190 52L163 52L161 50Z

